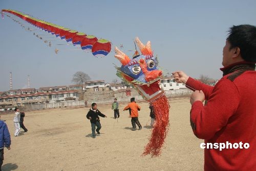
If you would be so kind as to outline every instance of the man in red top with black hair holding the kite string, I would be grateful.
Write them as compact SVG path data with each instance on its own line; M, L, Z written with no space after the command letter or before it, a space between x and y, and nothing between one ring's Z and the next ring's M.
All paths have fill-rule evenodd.
M256 27L233 26L223 48L223 77L213 87L173 73L195 92L190 124L204 139L204 170L256 169ZM203 101L207 100L204 106ZM210 145L210 144L213 144Z

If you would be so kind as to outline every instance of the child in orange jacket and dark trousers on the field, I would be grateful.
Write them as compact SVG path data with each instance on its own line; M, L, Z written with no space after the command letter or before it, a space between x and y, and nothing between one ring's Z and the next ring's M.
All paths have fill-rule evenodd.
M140 106L137 105L137 103L135 102L135 97L131 98L131 103L129 103L123 110L131 110L130 116L132 117L131 121L132 121L132 126L133 126L133 131L136 130L136 124L139 127L139 130L142 129L142 126L140 125L138 116L139 113L138 111L140 111Z

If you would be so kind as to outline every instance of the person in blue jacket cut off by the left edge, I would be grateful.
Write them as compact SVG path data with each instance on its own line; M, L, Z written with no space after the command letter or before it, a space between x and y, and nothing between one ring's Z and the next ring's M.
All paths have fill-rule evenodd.
M0 171L4 160L4 148L11 150L11 137L6 123L0 120Z

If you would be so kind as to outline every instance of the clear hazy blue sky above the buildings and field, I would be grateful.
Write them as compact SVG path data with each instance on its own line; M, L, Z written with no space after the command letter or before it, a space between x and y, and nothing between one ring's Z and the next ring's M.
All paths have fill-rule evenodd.
M0 7L110 40L112 49L123 44L122 50L129 56L136 36L143 43L150 40L162 68L183 70L194 78L203 74L220 79L227 30L232 25L256 25L256 1L1 0ZM118 79L114 64L120 63L114 52L95 58L74 51L72 45L56 45L64 42L45 36L55 40L49 47L6 16L0 28L0 91L9 90L10 71L13 89L26 88L28 75L33 88L71 85L76 71L86 72L92 80ZM55 48L59 49L57 55Z

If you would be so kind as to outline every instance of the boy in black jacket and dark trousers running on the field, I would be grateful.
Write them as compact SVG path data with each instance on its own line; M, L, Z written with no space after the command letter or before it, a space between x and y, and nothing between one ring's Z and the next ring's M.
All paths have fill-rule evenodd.
M100 134L99 130L101 129L101 125L100 125L99 116L101 116L101 117L106 117L106 115L102 114L102 113L97 109L97 104L96 104L96 103L93 103L93 104L92 104L92 108L90 108L89 112L88 112L87 115L86 115L86 117L87 117L88 119L90 119L90 121L91 121L93 138L96 137L96 134L95 134L95 128L96 128L96 126L97 126L96 132L97 132L97 134Z

